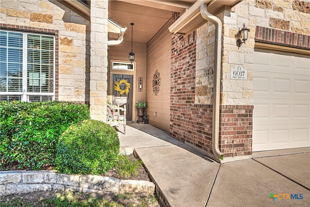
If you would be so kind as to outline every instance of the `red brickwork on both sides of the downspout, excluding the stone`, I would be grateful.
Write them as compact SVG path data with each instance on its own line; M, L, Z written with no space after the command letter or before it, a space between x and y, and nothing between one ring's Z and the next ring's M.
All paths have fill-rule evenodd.
M172 35L170 135L212 154L213 106L195 104L196 34ZM219 148L224 157L252 154L252 105L221 105Z

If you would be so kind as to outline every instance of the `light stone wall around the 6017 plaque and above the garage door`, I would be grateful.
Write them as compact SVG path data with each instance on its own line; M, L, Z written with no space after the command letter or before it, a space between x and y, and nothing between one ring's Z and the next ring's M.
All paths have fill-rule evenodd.
M306 39L310 35L309 8L310 2L303 0L245 0L220 15L223 22L221 104L253 104L253 60L256 40L309 49L309 45L299 44L309 42ZM250 32L246 43L238 48L235 34L243 24ZM263 31L271 33L266 36ZM285 42L284 36L288 37L285 38ZM295 40L290 42L289 39L295 36L302 38L302 41L298 41L298 44ZM248 71L248 80L230 79L231 68L236 65L241 65Z

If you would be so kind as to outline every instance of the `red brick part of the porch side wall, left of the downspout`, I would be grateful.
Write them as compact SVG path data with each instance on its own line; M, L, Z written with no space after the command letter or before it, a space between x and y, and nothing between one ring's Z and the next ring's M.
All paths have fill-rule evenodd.
M195 104L196 32L173 34L170 135L205 151L212 149L212 106Z

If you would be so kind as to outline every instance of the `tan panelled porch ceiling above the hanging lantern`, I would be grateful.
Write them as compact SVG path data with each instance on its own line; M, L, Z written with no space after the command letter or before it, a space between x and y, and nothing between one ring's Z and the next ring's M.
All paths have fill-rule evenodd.
M147 43L171 18L172 12L184 12L196 0L109 0L109 18L127 28L124 41ZM160 9L159 9L160 8Z

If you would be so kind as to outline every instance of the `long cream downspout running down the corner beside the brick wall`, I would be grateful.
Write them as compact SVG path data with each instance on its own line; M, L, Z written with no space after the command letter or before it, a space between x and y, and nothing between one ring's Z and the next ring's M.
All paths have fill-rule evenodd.
M215 69L213 74L213 125L212 125L212 152L219 161L224 155L219 151L219 96L220 96L220 74L221 74L221 45L222 45L222 22L207 10L207 4L200 7L202 17L215 25Z

